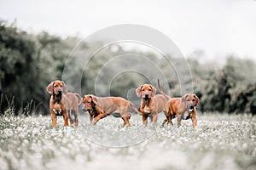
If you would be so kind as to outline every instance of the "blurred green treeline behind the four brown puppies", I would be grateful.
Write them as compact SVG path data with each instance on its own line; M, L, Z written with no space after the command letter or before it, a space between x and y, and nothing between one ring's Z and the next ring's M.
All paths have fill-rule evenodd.
M82 45L75 53L71 53L78 42ZM51 81L61 80L65 62L70 55L74 55L73 59L76 59L76 56L82 56L84 51L93 50L97 43L101 42L81 42L79 37L61 38L49 35L47 32L41 32L38 35L29 34L0 21L1 114L10 106L16 113L29 106L29 111L36 114L49 114L49 94L45 90L46 86ZM175 70L170 68L165 59L155 56L154 53L138 52L135 49L129 50L129 54L132 53L147 56L160 65L168 78L168 84L162 84L165 91L170 88L171 96L180 96L179 79ZM77 89L81 83L82 94L95 94L96 76L102 66L113 57L122 54L127 54L127 50L120 46L116 46L114 50L106 48L96 54L97 57L90 59L90 65L85 70L84 65L77 65L78 61L69 62L69 67L72 68L68 75L68 81L72 82L69 83L71 84L68 87L69 90L78 92ZM184 77L185 85L193 82L194 93L201 99L198 110L203 113L218 111L256 114L256 65L253 60L228 56L226 64L214 67L212 63L201 64L200 59L197 59L201 55L202 53L195 53L188 59L192 77L186 73L179 75ZM182 71L184 65L182 60L172 58L172 63L175 68L181 68ZM120 66L129 67L129 65L144 66L145 70L147 69L146 65L127 60L122 65L107 68L104 73L119 71ZM75 82L74 77L80 72L84 72L81 82ZM155 74L154 79L157 79L158 75ZM111 87L104 86L104 82L109 81L108 77L102 77L101 81L103 83L99 86L103 95L106 91L110 91L113 96L125 98L128 93L131 93L129 89L137 88L141 83L149 83L148 77L132 71L121 72L114 77Z

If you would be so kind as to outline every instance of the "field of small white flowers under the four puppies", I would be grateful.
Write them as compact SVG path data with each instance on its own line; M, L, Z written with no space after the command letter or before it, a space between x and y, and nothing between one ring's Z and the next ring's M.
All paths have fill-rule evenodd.
M7 114L6 114L7 115ZM50 116L0 116L0 169L256 169L256 117L198 114L198 129L132 127L108 116L90 126L51 127Z

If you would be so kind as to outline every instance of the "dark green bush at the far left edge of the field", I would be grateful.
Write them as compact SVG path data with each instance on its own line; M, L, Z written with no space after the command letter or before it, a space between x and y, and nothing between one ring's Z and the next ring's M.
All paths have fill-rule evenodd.
M3 94L15 96L14 102L18 108L28 101L26 93L37 85L34 82L37 79L36 65L33 65L35 45L28 37L26 32L0 23L0 85ZM6 103L4 101L3 105Z

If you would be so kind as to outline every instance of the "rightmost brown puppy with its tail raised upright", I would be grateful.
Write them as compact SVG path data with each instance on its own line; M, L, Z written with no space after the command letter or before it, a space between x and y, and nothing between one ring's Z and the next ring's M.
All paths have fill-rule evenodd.
M177 115L177 127L181 126L181 120L191 119L193 127L197 127L196 118L196 106L199 104L199 98L195 94L184 94L181 98L172 98L164 93L160 87L160 81L158 80L158 88L160 94L163 94L168 99L168 112L166 119L162 123L162 127L166 124L172 124L172 119ZM173 125L173 124L172 124Z

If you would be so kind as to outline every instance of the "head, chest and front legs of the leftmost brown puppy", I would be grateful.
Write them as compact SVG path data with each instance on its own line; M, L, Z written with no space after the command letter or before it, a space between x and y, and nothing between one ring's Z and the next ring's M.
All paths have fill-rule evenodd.
M46 90L51 97L49 99L49 109L51 112L51 122L52 127L56 127L57 116L63 116L64 127L68 126L68 99L65 94L67 94L67 85L65 82L54 81L50 82Z

